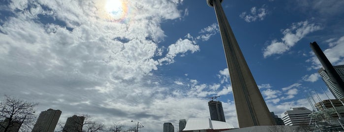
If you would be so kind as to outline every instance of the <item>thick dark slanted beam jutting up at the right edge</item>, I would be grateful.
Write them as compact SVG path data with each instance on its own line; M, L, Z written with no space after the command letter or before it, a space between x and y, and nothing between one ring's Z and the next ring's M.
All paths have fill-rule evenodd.
M336 87L337 89L333 89L334 92L332 94L334 94L334 96L336 97L335 91L337 90L342 95L342 98L343 98L344 81L342 80L341 76L336 72L335 68L332 66L330 61L326 58L324 52L322 52L322 50L320 49L319 45L316 42L310 43L310 46L315 56L319 59L322 67L324 68L324 71L328 75L328 78L331 79L331 81L333 82L333 86L328 85L328 88L331 90L332 87ZM338 97L336 98L341 99Z

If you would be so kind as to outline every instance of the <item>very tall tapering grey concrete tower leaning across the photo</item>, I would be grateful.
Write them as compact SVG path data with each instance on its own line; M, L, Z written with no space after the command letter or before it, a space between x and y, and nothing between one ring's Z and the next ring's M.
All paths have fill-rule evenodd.
M208 5L215 8L218 19L239 127L275 125L224 14L221 2L222 0L207 0Z

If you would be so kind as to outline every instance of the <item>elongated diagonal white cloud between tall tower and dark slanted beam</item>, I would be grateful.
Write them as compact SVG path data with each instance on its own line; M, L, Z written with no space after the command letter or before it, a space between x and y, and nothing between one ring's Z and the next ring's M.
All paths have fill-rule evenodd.
M272 40L264 51L264 58L274 54L283 54L293 47L300 39L307 34L320 30L321 27L316 24L310 24L308 21L293 23L289 29L283 30L282 41Z

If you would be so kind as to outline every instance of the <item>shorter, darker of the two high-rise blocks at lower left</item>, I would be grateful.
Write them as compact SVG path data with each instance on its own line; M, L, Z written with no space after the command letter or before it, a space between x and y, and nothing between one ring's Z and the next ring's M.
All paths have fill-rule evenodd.
M81 132L85 117L73 115L68 117L64 124L63 132Z

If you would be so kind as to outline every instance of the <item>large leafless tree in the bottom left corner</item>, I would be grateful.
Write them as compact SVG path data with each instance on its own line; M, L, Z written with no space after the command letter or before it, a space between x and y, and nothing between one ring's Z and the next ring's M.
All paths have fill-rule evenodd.
M33 108L36 105L38 104L5 95L0 102L0 131L18 131L19 128L22 132L30 130L35 120Z

